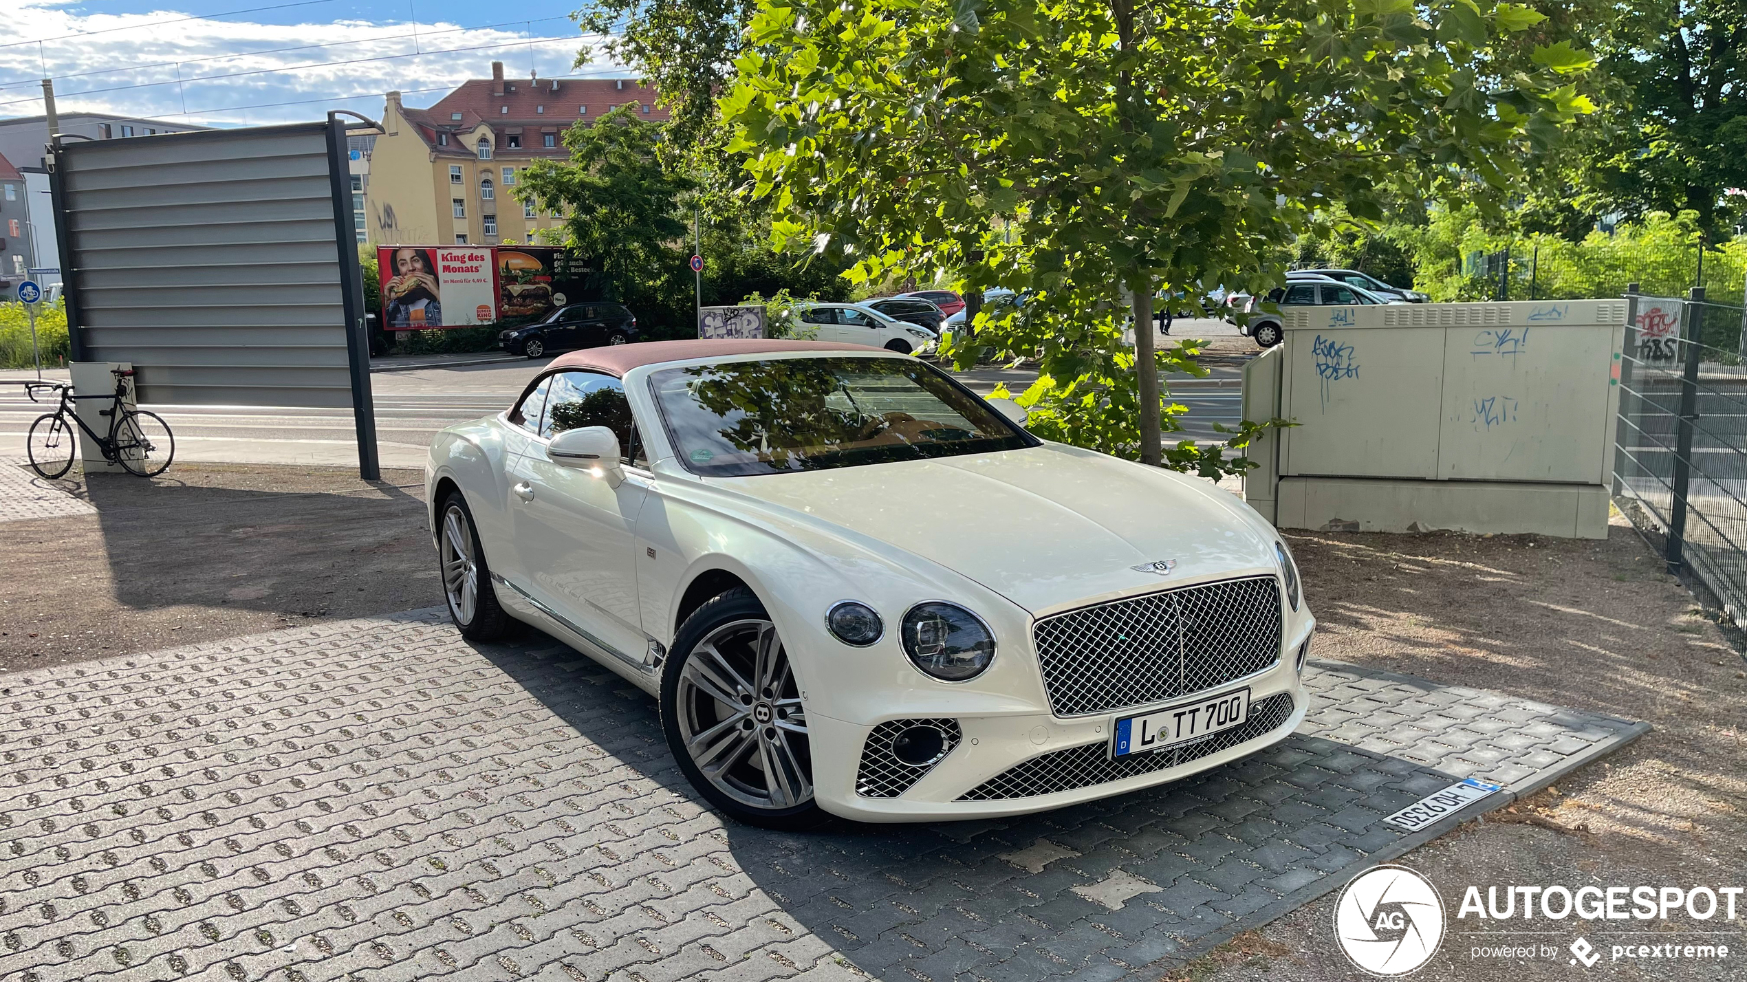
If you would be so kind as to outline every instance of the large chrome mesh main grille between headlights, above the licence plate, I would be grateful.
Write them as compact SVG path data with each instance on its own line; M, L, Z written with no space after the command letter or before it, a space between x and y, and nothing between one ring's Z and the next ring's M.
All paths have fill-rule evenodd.
M1045 617L1032 627L1057 716L1164 702L1281 659L1274 577L1162 591Z

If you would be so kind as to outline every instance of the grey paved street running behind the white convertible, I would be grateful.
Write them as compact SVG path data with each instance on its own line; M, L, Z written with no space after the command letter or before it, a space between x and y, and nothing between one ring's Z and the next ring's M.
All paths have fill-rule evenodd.
M484 358L489 358L484 356ZM425 447L444 426L505 409L549 360L494 360L486 363L428 363L398 369L400 360L379 362L370 376L376 393L376 435L384 467L423 467ZM65 372L47 377L65 381ZM28 372L0 372L0 379L23 379ZM1006 383L1024 391L1036 372L980 369L964 383L980 393ZM1172 383L1177 402L1190 407L1184 439L1219 439L1212 423L1237 423L1239 376L1216 369L1207 379ZM49 407L28 402L17 386L0 386L0 447L23 451L30 423ZM353 419L349 409L257 409L222 405L154 405L176 433L176 456L187 461L353 465Z

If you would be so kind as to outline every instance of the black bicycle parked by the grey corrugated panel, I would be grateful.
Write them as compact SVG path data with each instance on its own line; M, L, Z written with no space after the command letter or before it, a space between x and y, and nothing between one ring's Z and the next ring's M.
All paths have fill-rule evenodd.
M68 384L24 383L24 391L31 402L40 402L37 398L38 391L59 391L61 400L54 412L45 412L30 425L26 451L30 453L31 470L49 481L72 470L73 454L79 451L79 433L73 426L84 430L96 442L103 453L103 460L119 463L131 474L155 477L169 467L171 458L176 456L176 437L169 432L169 425L155 412L122 409L128 398L128 379L133 377L133 370L117 369L110 374L115 376L115 395L80 397ZM73 404L80 398L108 398L115 402L110 409L98 412L100 416L108 416L108 433L98 433L79 418Z

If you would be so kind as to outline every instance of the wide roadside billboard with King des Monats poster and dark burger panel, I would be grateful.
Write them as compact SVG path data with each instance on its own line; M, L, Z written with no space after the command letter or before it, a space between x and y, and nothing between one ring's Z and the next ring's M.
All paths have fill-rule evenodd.
M582 299L587 269L556 246L377 246L383 328L538 318Z

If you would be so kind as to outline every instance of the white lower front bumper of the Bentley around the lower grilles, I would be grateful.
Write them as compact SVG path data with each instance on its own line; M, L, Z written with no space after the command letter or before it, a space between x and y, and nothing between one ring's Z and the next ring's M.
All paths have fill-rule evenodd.
M1136 767L1116 769L1108 764L1104 748L1118 713L1101 713L1095 716L1057 718L1050 713L1010 715L1010 716L971 716L957 718L961 730L952 750L940 758L926 774L896 797L868 797L858 793L858 774L863 764L863 748L877 725L858 725L830 716L811 715L807 720L809 739L814 758L814 795L819 806L837 816L856 821L942 821L996 818L1006 814L1025 814L1080 804L1087 800L1122 795L1139 788L1151 788L1170 781L1181 781L1211 767L1219 767L1232 760L1249 757L1265 750L1288 736L1303 722L1310 699L1300 685L1291 648L1281 660L1246 680L1216 687L1251 688L1251 716L1256 718L1256 706L1274 697L1289 697L1291 709L1284 713L1284 722L1261 732L1246 732L1240 743L1225 741L1219 750L1197 757L1197 746L1183 748L1183 758L1176 765L1164 765L1162 758L1148 764L1160 764L1157 771L1132 772L1144 767L1134 758ZM1275 706L1279 702L1274 702ZM1144 708L1123 709L1129 716ZM931 713L931 716L947 716ZM1219 734L1207 741L1209 750ZM1050 755L1067 753L1045 760ZM1176 753L1176 751L1164 751ZM832 762L833 767L821 767ZM1015 767L1032 762L1024 771L1053 771L1057 776L1067 769L1073 778L1055 779L1053 785L1073 785L1048 793L1027 793L1025 781L1015 781ZM1102 779L1116 771L1129 776ZM1076 783L1083 781L1083 783ZM1048 786L1048 783L1045 783ZM966 799L971 795L971 799ZM999 797L991 797L999 795ZM1008 797L1010 795L1010 797Z

